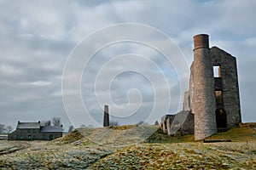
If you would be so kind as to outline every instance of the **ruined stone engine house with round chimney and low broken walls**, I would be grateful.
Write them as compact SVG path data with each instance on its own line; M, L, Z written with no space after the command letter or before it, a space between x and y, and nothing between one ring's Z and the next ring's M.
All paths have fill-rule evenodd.
M163 116L161 127L168 134L194 132L200 140L236 126L241 109L236 58L218 47L209 48L206 34L196 35L194 45L183 111Z

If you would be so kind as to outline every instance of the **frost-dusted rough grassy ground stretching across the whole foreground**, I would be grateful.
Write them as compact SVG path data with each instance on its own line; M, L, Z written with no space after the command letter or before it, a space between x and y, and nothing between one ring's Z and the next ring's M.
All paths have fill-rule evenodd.
M255 131L251 131L251 127L242 128L244 129L236 129L237 140L233 139L234 142L227 143L189 142L191 136L171 138L161 133L154 133L143 142L138 138L138 136L143 137L143 134L129 134L129 131L125 131L127 127L119 127L108 132L105 141L104 139L92 141L82 135L87 134L96 139L97 135L102 134L102 129L90 129L90 131L80 129L80 132L75 131L62 139L50 142L20 143L1 140L2 151L19 144L26 147L0 155L0 168L256 169ZM224 133L223 137L226 138L233 133L235 132ZM122 137L124 134L125 138ZM243 139L239 140L237 136ZM217 137L220 138L219 134ZM97 144L97 141L101 143Z

